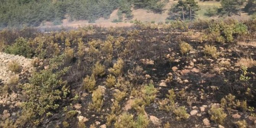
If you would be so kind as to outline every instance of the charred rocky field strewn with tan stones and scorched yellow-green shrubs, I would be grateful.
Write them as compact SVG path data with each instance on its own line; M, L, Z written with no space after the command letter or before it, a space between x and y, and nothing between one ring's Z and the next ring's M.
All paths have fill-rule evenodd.
M41 88L51 92L50 87L41 87L42 83L48 87L48 83L39 81L39 84L35 84L29 81L32 71L38 72L37 75L40 76L40 73L49 73L47 71L53 69L47 75L54 78L58 71L69 67L59 78L63 80L60 84L65 84L68 89L50 88L60 92L68 90L65 98L54 101L58 105L57 109L47 110L51 113L35 114L32 121L23 124L22 127L123 128L131 125L129 128L254 128L256 126L254 109L256 107L254 97L256 42L250 37L248 43L238 39L232 43L219 43L199 41L204 34L201 31L190 31L192 34L188 34L188 32L172 32L154 27L141 30L129 28L128 32L126 29L111 32L101 32L105 30L100 29L97 31L87 33L81 36L81 39L74 39L74 42L65 41L65 38L73 38L73 35L70 35L75 31L40 34L33 40L34 44L43 44L45 47L40 49L46 50L35 53L38 57L45 55L44 59L37 60L36 66L32 65L35 59L0 53L0 79L3 81L1 86L9 86L10 77L15 75L8 70L8 63L16 60L21 65L18 73L19 84L15 85L18 89L10 89L0 97L1 121L6 123L9 119L13 122L18 120L21 111L24 112L20 106L23 102L28 102L34 86L38 89L37 94L31 96L39 100L45 98L45 93L40 93ZM47 39L52 39L55 43L48 43L51 41ZM181 52L181 42L190 45L188 52ZM216 57L206 53L206 45L214 46L212 49L215 48ZM73 51L70 52L70 49ZM82 51L84 55L81 55L81 49L84 50ZM109 49L112 49L110 60L107 54ZM64 53L65 58L58 58L61 53ZM117 64L120 58L123 60L121 66ZM58 61L51 64L51 59L61 60L62 65L52 68L58 65ZM93 76L98 61L104 68L100 75ZM244 69L244 66L247 68ZM111 70L117 68L114 71L118 71L120 67L122 68L119 74ZM109 85L110 74L115 76L113 85ZM42 76L47 78L45 75ZM51 78L44 80L52 82ZM25 83L33 85L32 89L21 89L19 85ZM86 88L90 86L87 83L94 84L91 90ZM53 84L56 84L55 81ZM153 85L152 88L150 85ZM48 102L48 99L52 99L52 95L43 101ZM30 100L42 104L36 98ZM44 107L39 106L40 109ZM216 109L218 111L212 112L213 108L218 108ZM128 117L123 116L127 113ZM139 118L140 115L143 115L143 119ZM221 117L225 117L223 122L216 120ZM34 122L38 121L35 119L40 119L40 123L35 124Z

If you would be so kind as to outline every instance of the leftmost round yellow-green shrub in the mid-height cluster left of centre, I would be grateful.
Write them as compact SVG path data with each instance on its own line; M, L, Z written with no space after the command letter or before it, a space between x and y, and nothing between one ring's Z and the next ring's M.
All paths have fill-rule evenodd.
M94 87L96 85L96 80L95 80L95 77L92 75L92 76L86 76L86 78L84 78L84 81L83 81L83 88L86 89L87 91L91 92Z

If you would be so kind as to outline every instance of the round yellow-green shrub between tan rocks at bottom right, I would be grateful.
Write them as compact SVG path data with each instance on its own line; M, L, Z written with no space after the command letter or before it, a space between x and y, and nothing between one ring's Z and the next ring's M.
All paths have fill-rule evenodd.
M220 124L224 123L224 120L227 117L227 114L224 112L224 110L216 106L212 106L208 113L211 115L212 121Z

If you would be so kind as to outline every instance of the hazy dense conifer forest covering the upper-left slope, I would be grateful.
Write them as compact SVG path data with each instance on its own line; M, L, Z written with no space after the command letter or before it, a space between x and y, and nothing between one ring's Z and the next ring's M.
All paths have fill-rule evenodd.
M94 22L100 17L108 18L119 7L121 13L129 14L131 4L161 12L164 6L161 3L160 0L0 0L0 28L21 24L39 26L42 21L60 24L65 15L70 20Z

